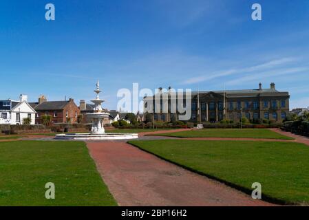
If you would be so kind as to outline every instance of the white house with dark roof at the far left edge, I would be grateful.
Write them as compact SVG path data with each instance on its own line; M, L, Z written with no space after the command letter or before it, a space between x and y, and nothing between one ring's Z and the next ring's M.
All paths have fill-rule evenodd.
M27 102L27 96L21 95L19 101L0 100L0 124L23 124L24 118L31 118L35 124L36 111Z

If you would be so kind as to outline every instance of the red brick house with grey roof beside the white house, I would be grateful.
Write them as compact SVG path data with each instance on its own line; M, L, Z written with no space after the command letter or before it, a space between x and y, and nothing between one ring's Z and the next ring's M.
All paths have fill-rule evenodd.
M42 115L51 115L52 123L76 123L78 115L81 113L78 106L74 103L74 99L68 101L51 101L43 100L40 103L31 103L36 105L36 124L42 124Z

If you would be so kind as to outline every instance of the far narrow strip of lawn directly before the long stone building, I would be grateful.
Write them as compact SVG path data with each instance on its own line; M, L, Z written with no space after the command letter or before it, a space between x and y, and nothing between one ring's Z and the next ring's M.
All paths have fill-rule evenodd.
M200 129L162 133L160 135L169 137L251 137L293 140L292 137L286 137L268 129Z

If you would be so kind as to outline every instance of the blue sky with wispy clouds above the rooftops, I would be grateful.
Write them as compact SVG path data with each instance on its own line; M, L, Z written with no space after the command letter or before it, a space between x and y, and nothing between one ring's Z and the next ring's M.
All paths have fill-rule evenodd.
M54 3L56 20L45 20ZM251 5L262 5L262 21ZM1 1L0 99L94 98L118 89L255 89L309 106L308 0Z

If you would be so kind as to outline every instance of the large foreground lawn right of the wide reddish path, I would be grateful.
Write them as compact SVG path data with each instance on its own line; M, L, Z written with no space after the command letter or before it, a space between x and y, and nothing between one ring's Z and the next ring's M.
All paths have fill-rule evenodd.
M304 144L200 140L129 143L250 195L252 184L259 182L262 199L309 205L309 146Z

